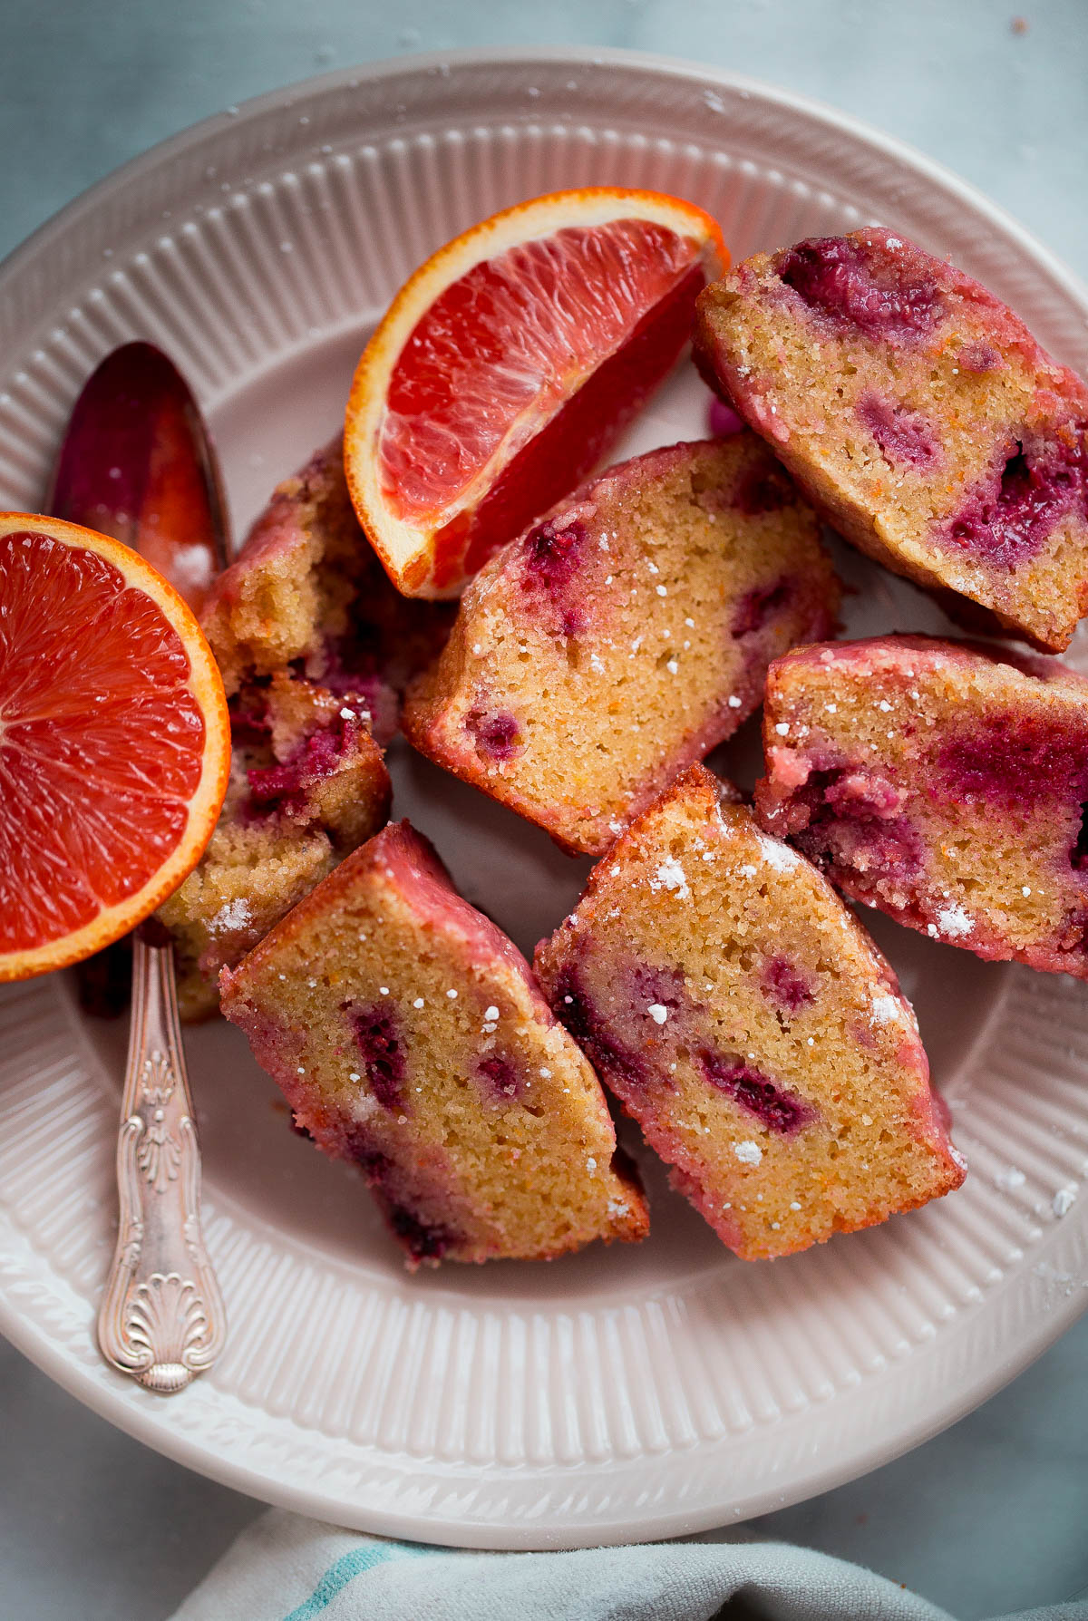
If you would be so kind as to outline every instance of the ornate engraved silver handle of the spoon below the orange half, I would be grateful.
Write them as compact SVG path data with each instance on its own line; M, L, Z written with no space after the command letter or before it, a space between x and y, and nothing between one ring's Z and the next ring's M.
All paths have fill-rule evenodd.
M120 1229L99 1345L122 1373L170 1396L212 1365L227 1324L199 1224L199 1146L173 950L157 942L154 924L135 940L117 1188Z

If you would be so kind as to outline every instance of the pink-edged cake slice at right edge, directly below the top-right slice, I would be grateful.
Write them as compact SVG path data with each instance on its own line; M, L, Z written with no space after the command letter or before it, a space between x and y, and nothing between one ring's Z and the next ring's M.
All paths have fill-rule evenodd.
M1088 681L919 635L767 678L764 827L848 895L978 956L1088 979Z

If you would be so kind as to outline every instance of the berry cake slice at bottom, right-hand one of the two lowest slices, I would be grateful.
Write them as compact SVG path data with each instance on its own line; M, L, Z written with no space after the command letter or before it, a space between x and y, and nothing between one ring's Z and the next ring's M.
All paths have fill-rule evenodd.
M832 887L692 767L551 940L548 999L744 1260L957 1188L910 1005Z

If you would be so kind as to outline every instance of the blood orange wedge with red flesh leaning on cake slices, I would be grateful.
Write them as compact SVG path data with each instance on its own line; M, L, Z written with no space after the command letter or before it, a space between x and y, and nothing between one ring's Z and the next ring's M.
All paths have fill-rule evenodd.
M722 232L658 191L495 214L401 289L347 404L352 501L407 597L456 597L568 494L683 350Z

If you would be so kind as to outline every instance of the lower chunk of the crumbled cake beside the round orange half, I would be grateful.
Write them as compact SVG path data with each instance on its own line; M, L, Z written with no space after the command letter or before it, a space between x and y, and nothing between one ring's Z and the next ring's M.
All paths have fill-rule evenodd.
M219 1005L242 961L349 849L389 815L389 773L366 694L284 671L230 699L230 786L208 849L157 917L173 937L182 1018Z

